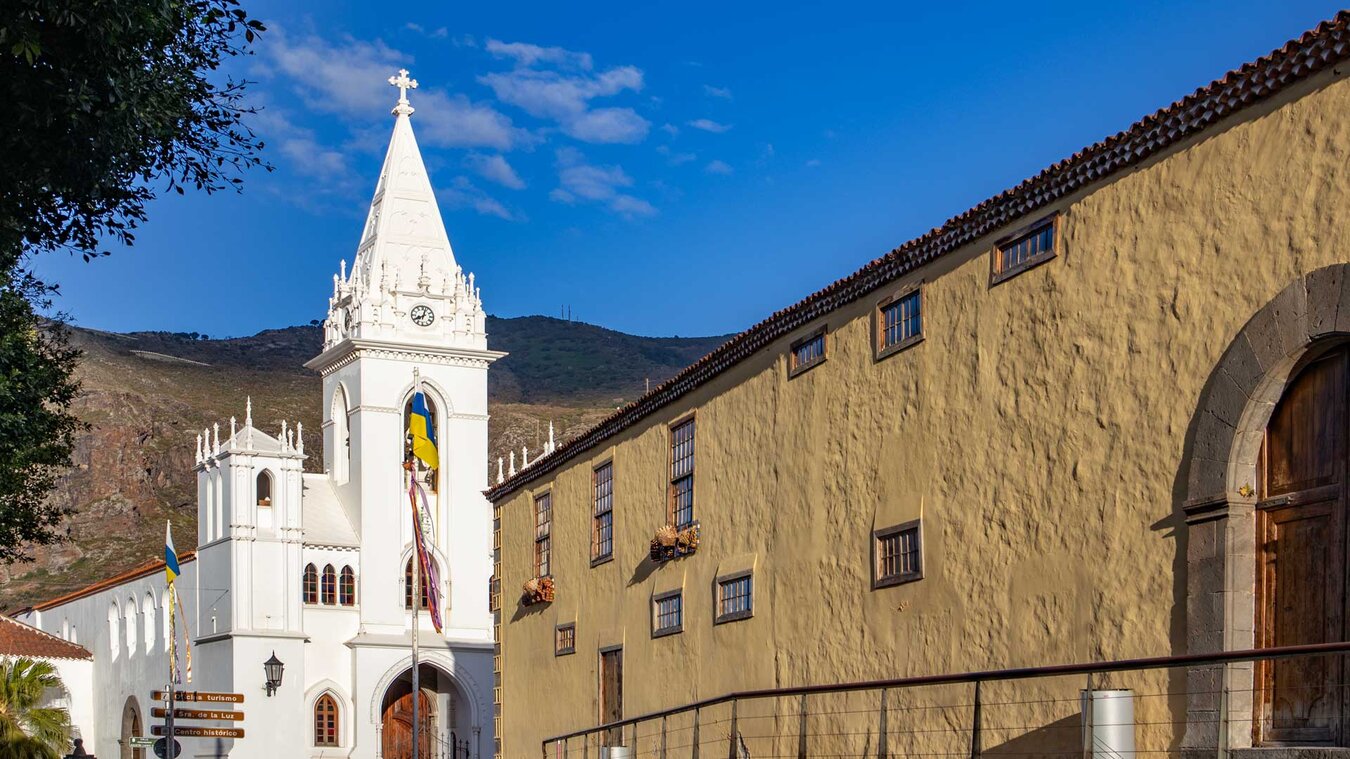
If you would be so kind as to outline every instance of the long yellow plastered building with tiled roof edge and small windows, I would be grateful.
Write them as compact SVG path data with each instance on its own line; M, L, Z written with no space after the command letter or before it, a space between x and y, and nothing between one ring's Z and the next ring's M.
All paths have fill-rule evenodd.
M498 482L500 755L749 689L1345 640L1347 77L1342 12ZM1212 755L1350 744L1341 667L1110 682L1141 750ZM984 751L1079 745L1079 687L991 683ZM810 755L969 748L968 687L879 698L813 702ZM753 708L703 755L798 755L798 702ZM690 756L690 720L567 755Z

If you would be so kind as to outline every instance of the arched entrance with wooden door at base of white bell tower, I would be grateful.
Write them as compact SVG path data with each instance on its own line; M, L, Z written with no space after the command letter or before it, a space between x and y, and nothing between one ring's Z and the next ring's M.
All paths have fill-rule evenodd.
M467 759L470 709L455 679L433 664L421 664L418 681L418 758ZM412 759L412 670L400 675L385 691L379 731L382 759Z

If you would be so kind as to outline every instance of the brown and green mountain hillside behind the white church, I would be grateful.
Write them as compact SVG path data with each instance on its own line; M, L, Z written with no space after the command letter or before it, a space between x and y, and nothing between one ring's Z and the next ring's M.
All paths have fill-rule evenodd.
M552 421L576 435L717 347L724 338L641 338L545 316L487 317L487 342L510 355L489 373L493 455L541 447ZM228 429L252 397L254 423L305 427L309 469L321 469L320 384L304 362L319 354L319 327L248 338L182 332L73 330L84 350L77 413L90 424L55 498L76 511L69 542L0 566L0 608L50 598L157 556L163 520L180 550L196 543L194 438ZM487 466L487 462L483 462Z

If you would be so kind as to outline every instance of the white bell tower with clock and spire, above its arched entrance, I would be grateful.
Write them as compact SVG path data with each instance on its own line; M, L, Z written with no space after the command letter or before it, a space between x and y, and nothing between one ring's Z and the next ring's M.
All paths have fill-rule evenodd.
M487 367L505 354L487 350L479 289L455 261L417 149L417 82L405 70L389 82L400 89L389 150L351 270L343 261L333 276L324 350L305 366L323 375L324 469L360 540L362 631L404 635L412 624L402 462L416 378L440 440L439 470L413 475L431 498L444 633L489 642Z

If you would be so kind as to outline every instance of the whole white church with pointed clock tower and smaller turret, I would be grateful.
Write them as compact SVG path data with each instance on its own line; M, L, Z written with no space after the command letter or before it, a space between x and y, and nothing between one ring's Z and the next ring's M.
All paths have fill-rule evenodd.
M487 350L474 276L455 262L413 136L406 72L370 215L348 274L333 277L323 352L323 474L306 473L297 424L221 420L197 444L197 550L177 589L190 644L185 690L238 693L243 718L178 727L242 728L182 737L182 756L263 759L412 755L413 604L409 477L429 497L429 543L443 632L420 612L421 759L493 754L491 511ZM414 373L427 393L437 471L405 471ZM309 469L316 469L309 466ZM180 538L181 543L188 540ZM68 669L77 736L100 759L142 759L162 723L151 691L167 681L163 563L39 604L19 619L86 648ZM265 662L284 664L267 682ZM181 662L180 669L184 669ZM185 675L188 673L184 673ZM180 704L180 706L200 706ZM211 708L220 708L212 704Z

